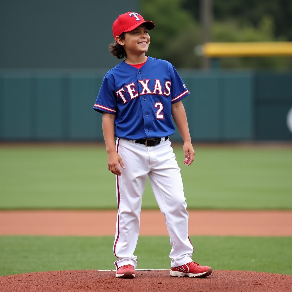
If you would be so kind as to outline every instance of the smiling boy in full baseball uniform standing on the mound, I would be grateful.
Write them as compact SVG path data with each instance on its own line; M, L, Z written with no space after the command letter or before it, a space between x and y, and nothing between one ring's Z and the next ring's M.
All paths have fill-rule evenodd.
M115 42L110 52L126 59L107 72L93 107L103 114L108 169L116 175L116 277L135 278L134 251L147 175L170 236L170 275L206 277L211 267L191 258L194 249L188 236L187 204L169 140L175 132L173 116L184 140L184 164L190 166L195 152L181 102L190 92L173 65L145 55L150 44L148 30L154 27L135 12L121 14L114 21Z

